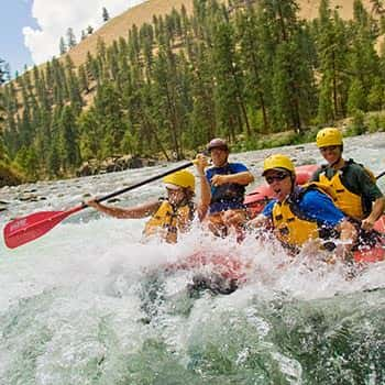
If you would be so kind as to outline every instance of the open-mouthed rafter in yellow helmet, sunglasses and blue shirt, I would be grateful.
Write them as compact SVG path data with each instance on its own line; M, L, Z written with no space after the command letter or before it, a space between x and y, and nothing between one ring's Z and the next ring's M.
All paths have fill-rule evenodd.
M274 154L264 161L263 174L274 193L274 199L253 219L252 227L273 230L275 237L292 253L315 241L327 250L336 248L339 255L349 255L356 232L331 197L318 184L298 186L289 157Z

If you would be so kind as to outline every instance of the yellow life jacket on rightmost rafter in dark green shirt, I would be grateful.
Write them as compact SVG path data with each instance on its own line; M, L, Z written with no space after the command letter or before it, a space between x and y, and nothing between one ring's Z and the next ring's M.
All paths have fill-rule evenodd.
M353 160L346 161L346 165L358 164ZM369 174L371 179L375 183L375 176L373 173L365 168L360 164L363 169ZM327 168L323 167L323 168ZM346 186L343 185L341 176L343 175L343 168L338 170L331 179L329 179L326 175L326 170L319 175L319 182L323 185L328 185L333 188L336 191L337 198L334 200L336 206L344 212L346 216L362 220L365 217L364 201L363 197L359 194L355 194L348 189Z

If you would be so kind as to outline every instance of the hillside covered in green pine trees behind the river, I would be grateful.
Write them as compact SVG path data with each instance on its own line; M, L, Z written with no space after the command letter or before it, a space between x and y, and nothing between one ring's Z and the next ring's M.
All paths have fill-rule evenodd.
M4 153L32 179L64 177L90 158L183 158L216 135L248 150L378 111L385 23L372 3L355 0L350 21L327 0L314 20L294 0L195 0L153 16L109 46L99 38L78 67L67 55L3 86Z

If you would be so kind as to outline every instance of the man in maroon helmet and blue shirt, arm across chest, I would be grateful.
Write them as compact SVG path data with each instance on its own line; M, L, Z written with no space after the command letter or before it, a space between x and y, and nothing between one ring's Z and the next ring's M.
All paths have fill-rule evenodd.
M206 169L206 156L198 155L196 166L201 184L201 208L209 221L210 230L226 237L230 228L234 228L238 238L242 237L242 226L246 221L243 205L245 186L254 180L253 175L242 163L228 161L230 150L228 143L220 138L213 139L207 151L213 166ZM206 169L206 172L205 172Z

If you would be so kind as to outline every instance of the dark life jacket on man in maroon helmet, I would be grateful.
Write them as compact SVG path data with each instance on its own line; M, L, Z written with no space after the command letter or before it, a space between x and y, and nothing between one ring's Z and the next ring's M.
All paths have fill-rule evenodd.
M220 168L220 173L215 173L213 175L231 175L235 174L231 163L228 163ZM212 175L212 176L213 176ZM245 186L235 183L224 184L221 186L211 186L211 201L210 205L218 202L234 202L239 204L238 207L243 207Z

